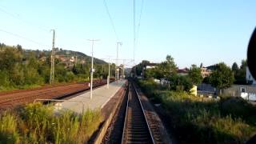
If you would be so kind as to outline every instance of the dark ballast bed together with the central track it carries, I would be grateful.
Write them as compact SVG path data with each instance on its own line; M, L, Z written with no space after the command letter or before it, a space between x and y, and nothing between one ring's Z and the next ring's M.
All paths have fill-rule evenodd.
M124 98L102 143L170 143L158 114L141 98L133 82L126 95L128 101Z

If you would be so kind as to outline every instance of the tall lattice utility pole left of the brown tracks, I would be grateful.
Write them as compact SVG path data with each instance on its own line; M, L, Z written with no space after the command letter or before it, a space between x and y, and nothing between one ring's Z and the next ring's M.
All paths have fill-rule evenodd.
M53 31L53 47L51 50L51 63L50 63L50 85L54 83L54 45L55 45L55 30L51 30Z

